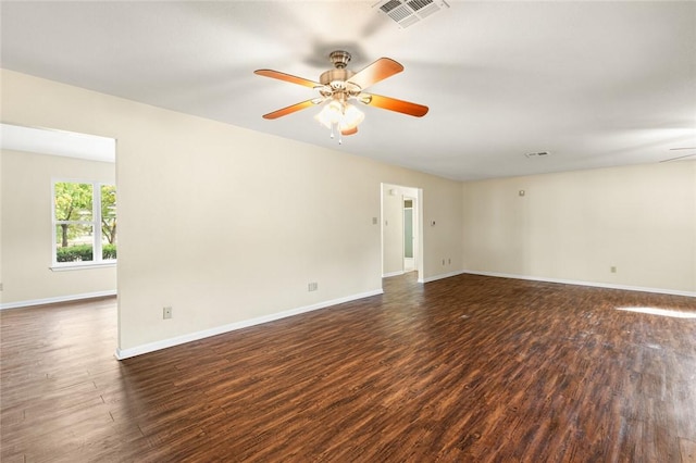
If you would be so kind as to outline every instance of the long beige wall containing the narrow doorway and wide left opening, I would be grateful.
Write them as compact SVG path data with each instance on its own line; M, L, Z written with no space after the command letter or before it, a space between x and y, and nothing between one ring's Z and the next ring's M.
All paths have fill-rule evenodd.
M461 255L457 182L8 71L2 121L117 140L122 353L378 292L382 183L449 216L424 276Z

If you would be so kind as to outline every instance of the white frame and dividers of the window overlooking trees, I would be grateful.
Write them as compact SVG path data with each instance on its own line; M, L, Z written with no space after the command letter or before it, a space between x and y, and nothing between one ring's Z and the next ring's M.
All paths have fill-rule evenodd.
M58 221L55 218L55 184L87 184L91 185L91 221ZM117 259L102 259L101 247L101 187L115 185L108 182L84 180L74 178L53 178L51 180L51 270L69 271L80 268L111 267L116 265ZM58 262L58 237L55 230L61 224L83 224L92 227L92 260L82 262Z

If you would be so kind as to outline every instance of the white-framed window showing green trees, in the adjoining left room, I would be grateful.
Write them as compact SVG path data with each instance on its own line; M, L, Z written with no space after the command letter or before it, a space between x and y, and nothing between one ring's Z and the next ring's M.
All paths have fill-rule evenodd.
M116 261L116 187L53 182L53 266Z

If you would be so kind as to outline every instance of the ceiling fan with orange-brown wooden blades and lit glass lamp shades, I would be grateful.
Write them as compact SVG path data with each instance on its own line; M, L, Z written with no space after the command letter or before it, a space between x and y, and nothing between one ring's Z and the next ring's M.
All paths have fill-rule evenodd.
M324 72L319 77L319 82L273 70L254 71L260 76L311 87L318 90L320 95L316 98L264 114L263 118L274 120L313 105L324 104L322 111L314 118L331 129L332 138L334 138L334 133L337 132L339 134L338 142L340 142L341 135L356 134L358 125L364 120L364 114L351 104L352 101L415 117L422 117L427 113L428 108L422 104L363 91L371 85L403 71L403 66L396 61L389 58L380 58L369 66L355 73L346 67L351 59L349 52L336 50L328 55L328 59L334 64L334 68Z

